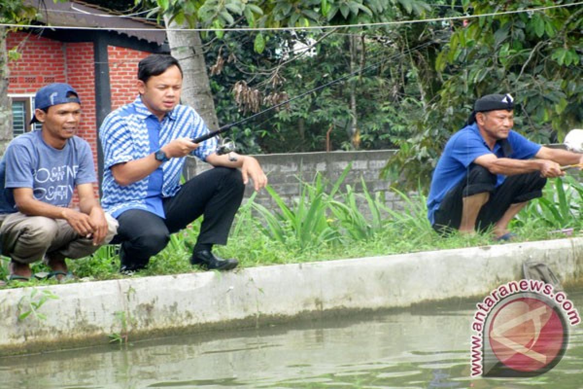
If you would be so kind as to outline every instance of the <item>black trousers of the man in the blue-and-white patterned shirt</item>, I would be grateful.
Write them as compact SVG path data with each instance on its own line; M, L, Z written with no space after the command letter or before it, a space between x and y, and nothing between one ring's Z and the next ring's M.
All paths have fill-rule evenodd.
M226 244L245 185L238 169L215 167L182 185L174 197L163 199L165 219L142 209L125 211L112 244L120 243L121 267L138 270L166 247L170 234L203 216L197 244Z

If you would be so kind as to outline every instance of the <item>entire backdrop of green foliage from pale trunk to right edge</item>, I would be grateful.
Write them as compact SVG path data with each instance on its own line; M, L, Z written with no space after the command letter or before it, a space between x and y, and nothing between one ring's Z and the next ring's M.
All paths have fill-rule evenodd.
M262 96L293 97L341 82L269 111L238 126L233 137L244 152L304 152L398 148L385 170L409 187L427 183L441 149L468 118L473 101L488 93L511 93L517 102L515 129L540 143L560 142L583 119L583 6L573 1L435 1L392 3L387 20L480 15L525 8L536 12L468 17L447 22L206 37L208 63L223 57L223 72L211 76L222 124L250 112L234 108L232 86L246 80ZM554 7L554 8L553 8ZM350 40L361 42L351 69ZM312 44L291 51L293 42ZM228 62L229 57L231 62ZM236 61L233 61L236 59ZM354 75L350 75L354 71ZM274 75L279 83L271 83ZM351 93L356 97L357 134L351 132ZM268 104L263 104L262 109Z

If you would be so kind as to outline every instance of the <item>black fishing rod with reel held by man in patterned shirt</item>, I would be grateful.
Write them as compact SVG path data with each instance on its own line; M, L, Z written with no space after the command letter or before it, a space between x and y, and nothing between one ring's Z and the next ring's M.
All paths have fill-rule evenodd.
M217 136L217 135L223 134L223 132L227 132L227 131L229 131L229 129L231 129L231 128L237 126L237 125L240 125L241 123L244 123L246 121L249 121L249 120L251 120L251 119L253 119L255 117L258 117L259 115L262 115L262 114L264 114L266 112L269 112L271 110L275 110L276 108L279 108L281 106L285 106L286 104L291 103L291 101L301 99L302 97L307 96L310 93L318 92L318 90L321 90L321 89L324 89L324 88L326 88L328 86L334 85L335 83L342 82L343 80L346 80L346 79L348 79L348 78L350 78L350 77L352 77L354 75L357 75L359 73L368 71L368 70L373 69L373 68L378 68L378 66L384 64L385 62L388 62L388 61L391 61L392 59L395 59L395 58L401 57L403 55L409 54L413 50L418 50L420 48L424 48L424 47L427 47L427 46L429 46L431 44L438 43L438 42L439 42L439 40L433 40L433 41L429 41L429 42L420 44L420 45L418 45L416 47L410 48L406 52L401 52L401 53L392 55L391 57L389 57L389 58L387 58L387 59L385 59L383 61L379 61L379 62L376 62L375 64L368 65L368 66L366 66L364 68L361 68L361 69L358 69L356 71L347 73L346 75L344 75L344 76L342 76L340 78L337 78L335 80L332 80L330 82L327 82L324 85L317 86L317 87L315 87L313 89L308 90L307 92L300 93L297 96L291 97L290 99L287 99L285 101L282 101L281 103L275 104L275 106L271 106L271 107L265 108L264 110L259 111L258 113L252 114L251 116L245 117L245 118L243 118L241 120L238 120L238 121L236 121L234 123L223 125L223 127L220 127L219 129L216 129L215 131L211 131L211 132L209 132L206 135L198 136L197 138L191 139L191 141L193 143L200 143L200 142L206 141L207 139L213 138L213 136ZM231 145L223 145L222 148L219 151L217 151L217 154L223 155L223 154L230 153L233 150L234 150L234 145L232 145L232 144Z

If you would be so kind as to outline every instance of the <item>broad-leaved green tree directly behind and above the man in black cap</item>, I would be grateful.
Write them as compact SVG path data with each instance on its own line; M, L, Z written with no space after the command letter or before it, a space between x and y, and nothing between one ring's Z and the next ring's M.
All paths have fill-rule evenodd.
M449 136L461 127L473 101L484 94L515 97L515 129L533 141L556 142L583 121L583 7L573 1L463 0L473 15L555 7L484 16L454 23L435 61L438 89L415 134L387 168L401 177L429 181Z

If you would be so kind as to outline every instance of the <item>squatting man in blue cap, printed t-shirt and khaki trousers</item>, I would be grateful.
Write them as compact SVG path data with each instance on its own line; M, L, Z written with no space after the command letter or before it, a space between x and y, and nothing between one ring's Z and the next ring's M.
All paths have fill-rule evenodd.
M29 264L45 260L50 276L68 276L65 258L81 258L108 243L117 221L94 197L89 143L76 136L81 106L65 83L42 87L34 97L33 122L41 131L17 136L0 162L0 240L10 257L9 279L31 277ZM73 190L79 209L69 208Z

